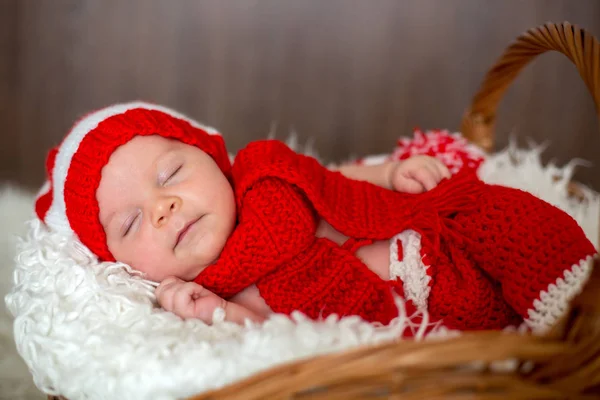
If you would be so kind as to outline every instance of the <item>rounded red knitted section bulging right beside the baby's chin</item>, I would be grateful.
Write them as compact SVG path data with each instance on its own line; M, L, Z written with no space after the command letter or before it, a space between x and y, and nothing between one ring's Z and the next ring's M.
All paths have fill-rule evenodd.
M280 179L266 178L238 199L239 223L219 260L194 280L229 298L315 240L317 220L305 197Z

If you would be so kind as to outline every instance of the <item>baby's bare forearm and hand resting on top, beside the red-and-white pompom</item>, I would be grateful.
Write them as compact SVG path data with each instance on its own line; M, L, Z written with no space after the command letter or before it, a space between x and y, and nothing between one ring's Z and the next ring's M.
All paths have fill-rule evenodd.
M450 171L440 160L423 155L377 165L348 164L337 170L347 178L404 193L431 190L442 179L450 177Z

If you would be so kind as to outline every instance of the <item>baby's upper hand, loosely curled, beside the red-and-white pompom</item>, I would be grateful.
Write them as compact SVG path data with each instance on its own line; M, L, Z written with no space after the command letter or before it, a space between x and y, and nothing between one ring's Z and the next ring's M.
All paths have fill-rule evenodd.
M398 192L423 193L450 176L448 168L437 158L417 155L395 162L390 186Z

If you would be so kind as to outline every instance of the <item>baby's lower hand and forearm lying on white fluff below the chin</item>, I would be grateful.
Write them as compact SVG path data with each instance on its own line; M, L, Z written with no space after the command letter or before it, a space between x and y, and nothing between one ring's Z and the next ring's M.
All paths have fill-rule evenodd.
M184 319L198 318L210 324L218 307L225 310L226 321L244 324L247 319L254 322L263 322L265 319L246 307L222 299L195 282L185 282L175 277L162 281L155 294L162 308Z

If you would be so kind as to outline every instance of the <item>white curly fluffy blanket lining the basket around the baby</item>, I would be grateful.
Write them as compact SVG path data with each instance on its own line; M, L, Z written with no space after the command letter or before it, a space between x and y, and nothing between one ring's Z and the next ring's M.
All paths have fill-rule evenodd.
M480 175L562 208L595 243L598 196L586 189L583 203L570 200L566 185L574 163L544 167L540 152L505 150L489 157ZM30 198L24 204L30 206ZM16 232L19 222L17 218L4 227ZM275 315L262 326L241 327L220 322L216 313L209 327L161 311L149 282L131 276L124 265L95 263L85 249L49 234L35 220L18 252L15 286L6 296L16 317L18 351L40 389L70 400L191 396L288 360L389 340L410 324L400 318L391 327L377 328L357 318L312 322L301 315L294 316L294 323ZM8 281L10 264L3 258L0 282ZM0 333L4 341L6 332ZM26 382L13 379L11 374L22 371L6 367L15 355L1 349L0 379Z

